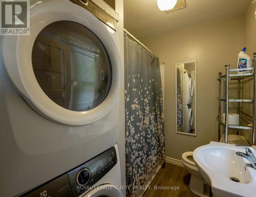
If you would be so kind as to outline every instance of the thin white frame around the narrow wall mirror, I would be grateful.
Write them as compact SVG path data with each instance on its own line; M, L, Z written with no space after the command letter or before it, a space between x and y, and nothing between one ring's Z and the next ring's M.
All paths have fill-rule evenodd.
M195 63L195 133L186 133L186 132L179 132L177 131L177 66L180 64L187 64L187 63ZM175 131L177 134L182 135L189 135L189 136L197 136L197 61L188 61L188 62L180 62L175 64Z

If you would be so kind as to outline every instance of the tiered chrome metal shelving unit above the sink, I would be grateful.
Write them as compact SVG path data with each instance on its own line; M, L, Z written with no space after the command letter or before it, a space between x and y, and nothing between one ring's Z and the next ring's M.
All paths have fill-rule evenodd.
M249 130L252 131L252 145L256 145L256 79L255 79L255 74L256 74L256 53L253 53L253 68L240 68L240 69L230 69L230 65L225 65L226 67L226 75L222 76L222 73L219 72L219 115L218 115L218 122L219 122L219 127L218 127L218 136L219 140L221 138L221 126L225 127L225 143L228 143L228 129L237 129L237 133L242 130ZM244 70L251 70L250 73L232 73L232 72L237 72L237 71L244 71ZM228 80L227 77L228 76ZM254 91L253 91L253 100L251 99L241 99L241 80L246 79L246 78L251 78L253 77L253 83L254 83ZM238 81L238 98L237 99L230 99L229 98L229 81L236 80ZM222 93L222 81L225 82L225 99L221 99L221 93ZM225 122L222 122L221 120L221 102L225 102L225 122L228 122L228 113L229 113L229 103L230 102L235 102L238 103L238 109L237 113L240 115L240 118L244 120L247 124L252 123L252 126L249 125L228 125L225 124ZM240 103L246 102L246 103L253 103L253 116L250 116L244 112L241 111L240 109ZM248 121L246 118L244 118L244 115L247 117L247 119L250 119Z

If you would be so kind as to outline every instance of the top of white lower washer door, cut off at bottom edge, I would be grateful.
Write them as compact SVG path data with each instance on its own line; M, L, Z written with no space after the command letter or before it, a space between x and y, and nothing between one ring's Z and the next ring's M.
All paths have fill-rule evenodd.
M85 195L80 197L123 197L123 194L115 188L114 185L105 184L99 185L95 189L92 189Z

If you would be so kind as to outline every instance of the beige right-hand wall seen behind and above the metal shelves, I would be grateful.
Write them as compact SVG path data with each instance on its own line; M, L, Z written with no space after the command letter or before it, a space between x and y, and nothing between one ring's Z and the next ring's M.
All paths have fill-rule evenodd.
M256 4L250 4L244 14L244 45L247 47L246 54L252 57L252 53L256 52L256 19L254 12ZM242 86L242 97L244 99L253 99L253 79L244 80ZM253 115L253 105L243 103L242 110ZM249 120L250 121L250 120ZM242 135L252 143L252 132L243 131Z

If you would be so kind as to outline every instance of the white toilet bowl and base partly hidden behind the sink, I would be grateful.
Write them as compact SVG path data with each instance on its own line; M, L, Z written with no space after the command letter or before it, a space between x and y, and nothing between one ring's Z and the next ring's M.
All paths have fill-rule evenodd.
M183 153L181 161L187 171L191 174L189 189L201 197L209 196L209 185L204 181L203 177L198 171L196 163L193 159L193 152Z

